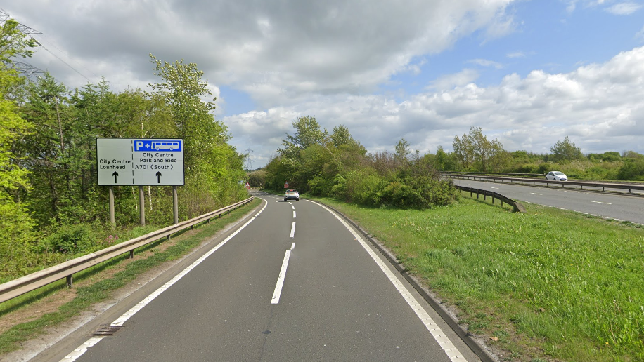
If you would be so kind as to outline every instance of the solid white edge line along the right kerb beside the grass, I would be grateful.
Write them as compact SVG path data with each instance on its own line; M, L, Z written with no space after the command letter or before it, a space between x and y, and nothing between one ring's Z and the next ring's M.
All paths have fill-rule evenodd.
M349 224L347 222L344 222L344 219L340 217L340 215L337 215L336 213L333 212L333 210L330 210L330 208L327 208L326 206L319 204L322 208L325 208L329 213L331 213L337 220L340 220L344 227L346 227L351 234L356 238L357 241L359 241L360 245L364 248L364 250L367 251L367 253L371 256L373 261L375 261L376 264L378 264L378 267L380 267L380 270L382 270L383 273L387 276L389 281L392 282L394 287L398 290L398 293L402 295L402 297L405 299L407 304L409 304L409 307L413 309L413 311L416 313L416 316L418 316L418 319L420 319L421 322L425 325L425 328L432 333L432 336L434 336L434 339L436 342L438 342L439 346L443 349L445 354L451 359L451 361L465 361L467 362L467 359L463 357L463 354L461 354L460 351L454 346L454 344L449 340L449 337L447 337L444 333L443 330L434 322L432 317L427 314L427 311L423 309L423 307L418 303L416 298L409 293L407 288L397 279L397 277L392 273L391 270L387 267L385 262L382 262L380 260L380 257L376 255L371 248L367 245L366 241L362 239L362 236L358 234L357 232L354 231L352 227L349 227Z

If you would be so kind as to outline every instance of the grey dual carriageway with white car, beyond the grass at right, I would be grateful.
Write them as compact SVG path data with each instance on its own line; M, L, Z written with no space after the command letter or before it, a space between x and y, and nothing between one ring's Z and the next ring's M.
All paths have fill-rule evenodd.
M585 192L559 187L508 185L498 182L453 180L455 185L498 192L510 199L565 208L579 213L644 224L644 197Z

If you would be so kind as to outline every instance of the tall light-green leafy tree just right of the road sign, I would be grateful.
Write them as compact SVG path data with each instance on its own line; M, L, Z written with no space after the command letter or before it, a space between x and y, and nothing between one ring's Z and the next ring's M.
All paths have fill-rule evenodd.
M155 93L148 96L156 105L167 107L176 135L185 145L186 185L181 193L188 202L180 213L199 215L215 205L239 199L245 194L243 185L238 184L245 177L243 156L228 145L228 128L210 113L217 108L216 98L202 100L212 96L207 82L201 79L203 72L195 63L183 60L161 62L150 55L150 61L161 81L149 84Z

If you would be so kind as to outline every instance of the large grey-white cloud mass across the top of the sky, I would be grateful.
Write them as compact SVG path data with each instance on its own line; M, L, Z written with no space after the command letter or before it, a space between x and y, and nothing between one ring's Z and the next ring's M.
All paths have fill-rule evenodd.
M122 71L139 74L112 82L116 88L150 81L147 55L154 53L196 62L211 82L274 107L302 95L371 92L394 74L417 74L414 59L464 36L508 34L513 1L32 0L14 1L6 11L65 49L70 62L110 80ZM39 56L34 62L46 67ZM97 62L115 66L99 72ZM69 86L86 83L71 69L56 70Z

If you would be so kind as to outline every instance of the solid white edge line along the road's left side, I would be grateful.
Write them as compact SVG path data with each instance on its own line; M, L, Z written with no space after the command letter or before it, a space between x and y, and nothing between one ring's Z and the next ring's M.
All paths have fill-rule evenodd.
M264 199L262 199L262 200L264 200ZM134 307L132 307L129 311L126 311L122 316L120 316L120 317L119 317L119 318L117 318L115 321L113 321L113 322L110 324L110 326L111 326L111 327L120 327L120 326L123 326L123 323L125 323L125 321L127 321L128 319L130 319L130 317L131 317L131 316L134 316L134 314L136 314L136 312L138 312L138 311L140 311L141 309L143 309L143 307L146 307L146 305L147 305L148 303L152 302L152 301L153 301L156 297L158 297L161 293L165 292L165 290L167 290L167 289L168 289L168 288L170 288L174 283L176 283L177 281L179 281L179 279L183 278L183 276L186 276L186 274L188 274L189 272L191 272L191 270L192 270L192 269L195 269L195 267L197 267L197 265L201 264L201 262L203 262L204 260L206 260L206 258L207 258L207 257L209 257L210 255L212 255L212 253L214 253L214 252L215 252L215 251L217 251L219 248L221 248L222 246L224 246L224 244L225 244L225 243L228 243L228 241L230 241L231 239L233 239L233 237L234 237L234 236L236 236L240 231L242 231L245 227L247 227L247 226L248 226L248 224L250 224L253 220L255 220L255 218L257 218L257 216L259 216L259 214L261 214L261 213L262 213L262 211L264 211L264 209L266 208L266 206L268 206L268 205L269 205L269 202L268 202L268 201L264 200L264 202L265 202L265 203L264 203L264 207L262 208L262 210L259 210L259 213L255 214L255 216L251 217L251 218L250 218L250 220L248 220L245 224L243 224L243 225L242 225L242 227L240 227L240 228L239 228L239 229L237 229L235 232L233 232L233 234L231 234L231 235L230 235L230 236L228 236L226 239L224 239L224 241L221 241L221 243L218 243L218 244L217 244L217 246L215 246L214 248L212 248L212 249L208 250L208 252L207 252L207 253L205 253L204 255L202 255L202 257L200 257L198 260L195 260L195 262L193 262L193 263L192 263L192 264L190 264L188 267L186 267L186 269L183 269L179 274L176 274L176 276L174 276L174 278L170 279L170 280L169 280L167 283L165 283L163 286L161 286L160 288L158 288L157 290L155 290L152 294L148 295L148 297L146 297L144 300L141 300L141 302L139 302L139 304L136 304L136 305L135 305ZM96 344L96 343L100 342L100 341L101 341L101 339L102 339L102 338L100 338L100 337L91 337L89 340L87 340L86 342L84 342L83 344L81 344L81 345L80 345L80 347L78 347L77 349L75 349L74 351L72 351L72 353L67 354L67 356L65 356L63 359L61 359L61 360L60 360L60 362L70 362L70 361L75 361L75 360L76 360L76 358L79 358L80 356L82 356L82 354L84 354L84 353L87 351L87 349L89 349L89 347L94 346L94 344Z

